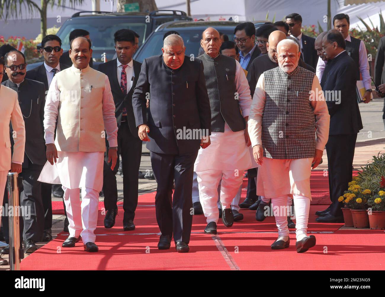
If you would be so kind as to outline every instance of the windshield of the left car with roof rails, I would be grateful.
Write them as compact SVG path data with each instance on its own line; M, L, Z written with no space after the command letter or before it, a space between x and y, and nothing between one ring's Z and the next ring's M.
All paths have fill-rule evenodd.
M138 33L139 45L141 45L146 36L147 23L142 19L112 19L112 18L83 18L79 20L67 22L67 25L58 32L62 40L62 48L64 51L70 49L69 36L75 29L84 29L90 32L93 50L114 50L114 33L119 29L131 29Z

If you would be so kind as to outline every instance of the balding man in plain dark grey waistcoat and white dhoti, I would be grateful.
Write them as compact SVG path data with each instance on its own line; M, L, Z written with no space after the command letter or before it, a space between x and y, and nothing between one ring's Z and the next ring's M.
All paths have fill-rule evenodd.
M201 47L205 53L198 58L204 65L212 133L211 146L199 150L194 171L207 221L204 232L216 234L219 182L222 221L226 227L231 227L234 222L231 201L242 184L243 171L251 168L247 133L251 96L241 65L233 58L219 53L221 40L217 30L207 28L203 31Z

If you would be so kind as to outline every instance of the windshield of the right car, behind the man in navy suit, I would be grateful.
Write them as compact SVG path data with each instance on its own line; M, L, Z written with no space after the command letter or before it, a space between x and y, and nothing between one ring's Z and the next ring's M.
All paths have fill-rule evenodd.
M223 32L224 34L228 35L229 40L233 40L234 29L218 29L220 32ZM141 50L137 53L134 59L142 63L145 58L160 55L162 53L163 35L165 32L167 31L152 33L152 35L149 37L147 42L144 43ZM202 32L203 30L201 29L181 30L179 32L183 38L184 46L186 47L186 56L189 56L191 54L193 54L195 57L198 56L198 51L201 47Z

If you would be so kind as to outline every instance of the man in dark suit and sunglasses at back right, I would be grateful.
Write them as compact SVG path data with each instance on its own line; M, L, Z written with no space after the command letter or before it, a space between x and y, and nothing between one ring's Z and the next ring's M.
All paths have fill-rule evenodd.
M291 13L286 15L286 23L288 23L291 37L296 38L301 45L301 57L306 64L309 64L314 69L317 67L318 55L314 49L315 38L306 36L301 32L302 17L298 13Z

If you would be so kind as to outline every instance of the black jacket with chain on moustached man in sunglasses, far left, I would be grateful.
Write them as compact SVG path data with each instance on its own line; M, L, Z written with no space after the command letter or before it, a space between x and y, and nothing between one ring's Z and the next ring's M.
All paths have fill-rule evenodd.
M19 88L17 88L17 85L10 80L2 82L2 85L18 92L19 105L25 122L25 153L23 167L28 166L27 158L32 164L44 165L47 161L45 156L43 125L45 105L44 83L25 78ZM12 124L10 124L11 144L13 148L14 142L12 133Z

